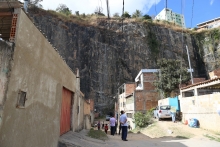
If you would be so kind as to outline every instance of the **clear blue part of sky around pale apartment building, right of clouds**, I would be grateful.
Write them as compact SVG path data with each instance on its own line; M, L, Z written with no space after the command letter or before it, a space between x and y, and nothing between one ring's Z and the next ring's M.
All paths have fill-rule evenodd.
M165 1L161 0L156 5L157 14L165 8ZM183 9L181 10L181 1ZM194 6L193 6L194 1ZM172 9L173 12L184 14L185 23L187 28L196 27L197 24L205 22L210 19L220 17L220 0L167 0L167 7ZM193 6L193 13L192 13ZM143 10L145 11L145 10ZM155 5L150 8L148 15L155 15ZM193 18L192 18L193 14Z

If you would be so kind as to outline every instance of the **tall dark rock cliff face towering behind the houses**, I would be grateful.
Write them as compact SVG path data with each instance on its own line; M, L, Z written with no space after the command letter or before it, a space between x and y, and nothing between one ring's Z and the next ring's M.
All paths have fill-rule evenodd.
M141 69L157 68L158 58L183 59L188 67L185 45L195 76L205 74L189 34L151 23L126 21L122 26L117 20L98 19L92 26L64 22L45 12L29 15L67 64L80 69L81 91L95 99L96 108L109 105L117 88L133 82Z

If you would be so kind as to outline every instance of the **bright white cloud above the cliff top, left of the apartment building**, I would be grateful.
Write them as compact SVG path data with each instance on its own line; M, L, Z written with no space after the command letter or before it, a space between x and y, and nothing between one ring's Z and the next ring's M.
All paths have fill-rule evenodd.
M136 9L146 14L152 6L158 4L161 0L124 0L125 11L130 14ZM103 13L106 14L106 0L43 0L41 3L44 9L55 10L59 4L65 4L72 10L72 13L79 11L80 14L91 14L97 6L102 6ZM109 0L110 14L118 12L122 14L123 0Z

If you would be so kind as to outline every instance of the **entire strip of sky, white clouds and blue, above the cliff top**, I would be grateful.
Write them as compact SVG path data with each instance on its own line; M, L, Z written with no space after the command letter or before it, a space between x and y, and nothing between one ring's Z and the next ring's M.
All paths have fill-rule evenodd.
M136 9L141 10L143 14L156 15L165 8L166 0L124 0L125 11L130 14ZM194 28L198 23L220 17L220 0L167 0L168 8L173 12L184 14L187 28ZM182 2L182 10L181 10ZM193 6L194 2L194 6ZM43 0L41 3L44 9L55 10L59 4L65 4L72 13L79 11L80 14L91 14L97 6L103 8L106 14L106 0ZM122 13L123 0L109 0L110 14ZM192 13L193 6L193 13ZM156 10L155 10L156 8ZM192 18L193 14L193 18ZM191 25L192 19L192 25Z

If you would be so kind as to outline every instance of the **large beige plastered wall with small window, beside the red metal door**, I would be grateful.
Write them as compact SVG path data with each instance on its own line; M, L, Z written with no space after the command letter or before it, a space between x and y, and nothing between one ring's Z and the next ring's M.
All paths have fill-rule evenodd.
M76 76L26 14L21 10L18 13L0 145L56 147L60 136L62 88L75 93ZM19 90L27 93L23 109L16 108ZM73 120L76 122L77 118Z

